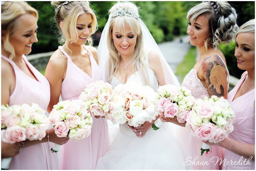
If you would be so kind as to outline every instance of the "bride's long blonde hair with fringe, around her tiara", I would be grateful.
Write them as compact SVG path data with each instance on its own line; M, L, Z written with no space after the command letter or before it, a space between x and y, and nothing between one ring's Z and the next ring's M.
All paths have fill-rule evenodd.
M132 2L118 2L114 4L109 10L109 13L113 15L113 13L119 9L131 9L137 16L139 16L138 7ZM149 77L147 73L147 67L145 63L145 52L143 50L143 35L140 27L139 18L134 18L131 16L116 16L111 17L109 23L109 30L107 34L107 47L109 49L109 81L115 76L117 71L119 70L120 65L120 54L115 48L114 41L112 39L113 26L117 26L119 28L119 33L125 34L125 25L128 29L137 34L137 41L135 45L134 56L132 57L132 71L135 73L136 67L139 67L140 74L142 75L142 79L145 85L149 84ZM137 66L138 64L138 66Z

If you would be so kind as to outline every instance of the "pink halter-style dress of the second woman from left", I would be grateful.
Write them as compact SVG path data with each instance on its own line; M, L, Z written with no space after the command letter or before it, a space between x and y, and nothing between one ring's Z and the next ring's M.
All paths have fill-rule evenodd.
M61 85L62 100L78 99L86 85L102 80L100 68L97 65L91 51L83 46L90 57L92 67L92 77L83 72L76 66L70 56L63 50L59 49L67 57L67 71L65 79ZM60 150L60 169L62 170L92 170L95 169L97 161L109 149L109 132L107 121L103 118L93 118L92 132L89 137L78 140L69 140L66 144L61 145Z

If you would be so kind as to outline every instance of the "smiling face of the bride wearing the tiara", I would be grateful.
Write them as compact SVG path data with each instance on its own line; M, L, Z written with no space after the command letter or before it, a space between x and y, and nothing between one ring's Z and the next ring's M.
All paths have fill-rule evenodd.
M114 24L112 29L112 39L115 48L121 56L132 56L135 52L135 45L137 41L137 34L129 30L125 24L124 33L119 32L118 27Z

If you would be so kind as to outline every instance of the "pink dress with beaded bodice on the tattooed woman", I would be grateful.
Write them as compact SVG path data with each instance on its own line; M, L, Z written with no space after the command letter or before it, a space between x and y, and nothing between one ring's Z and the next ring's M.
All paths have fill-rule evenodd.
M218 54L216 54L218 55ZM220 57L218 55L218 57ZM223 59L220 57L222 62L225 64ZM198 67L201 65L201 63L198 65ZM209 94L206 90L206 88L203 86L200 79L197 77L197 69L191 69L191 71L185 76L183 83L181 86L185 86L187 89L191 90L191 94L195 97L195 99L203 99L205 96L209 97ZM229 79L229 72L226 67L227 73L228 73L228 79ZM228 81L229 86L229 81ZM188 166L193 167L193 169L196 170L219 170L221 169L220 162L217 163L218 158L224 157L225 149L216 145L210 146L211 154L210 156L206 157L205 153L201 156L201 145L202 141L194 137L187 128L181 129L183 135L183 142L179 145L180 148L183 149L183 158L184 161L188 162ZM185 147L185 148L184 148Z

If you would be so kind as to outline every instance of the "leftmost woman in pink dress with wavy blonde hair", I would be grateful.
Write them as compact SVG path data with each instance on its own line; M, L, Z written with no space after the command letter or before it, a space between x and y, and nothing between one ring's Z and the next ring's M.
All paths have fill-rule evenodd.
M1 5L1 11L1 104L36 103L46 110L50 101L49 82L24 55L29 54L32 44L38 41L36 38L38 13L26 2L10 1ZM10 33L9 30L13 32ZM66 142L65 138L56 137L53 129L49 130L49 136L51 142L60 145ZM47 144L47 141L47 136L41 141L26 140L23 142L24 147L18 142L16 144L22 148L19 152L16 151L16 156L3 155L2 151L2 157L12 157L10 170L58 169L58 157L50 151L53 143ZM13 154L12 145L10 147L9 150Z

